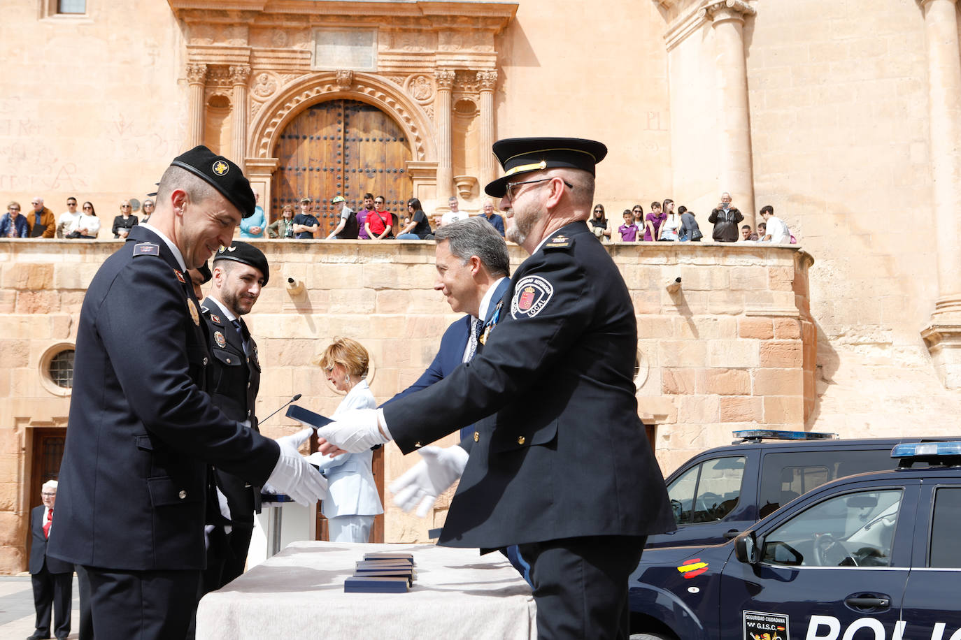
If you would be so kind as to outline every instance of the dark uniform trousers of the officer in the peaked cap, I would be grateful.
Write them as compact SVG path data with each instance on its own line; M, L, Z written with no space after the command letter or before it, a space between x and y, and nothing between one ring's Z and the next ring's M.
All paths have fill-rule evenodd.
M591 535L518 545L530 563L537 637L628 639L628 578L647 536Z

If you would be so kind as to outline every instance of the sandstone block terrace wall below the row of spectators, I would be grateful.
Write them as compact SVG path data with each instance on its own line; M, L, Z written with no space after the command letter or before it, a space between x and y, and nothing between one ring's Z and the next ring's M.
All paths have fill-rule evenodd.
M32 432L63 427L69 396L41 372L51 349L72 344L86 286L119 243L0 240L0 573L25 566ZM264 374L258 412L294 393L330 414L340 396L311 364L334 336L371 353L379 401L412 383L430 364L444 328L457 316L434 280L433 244L285 242L259 247L271 280L253 313ZM513 265L523 250L511 246ZM692 453L726 443L732 429L801 429L813 400L815 333L807 316L807 270L796 247L757 245L611 245L638 318L639 411L656 425L666 473ZM680 277L677 293L666 285ZM288 278L304 285L292 295ZM807 405L805 405L805 402ZM274 417L272 437L296 426ZM448 438L451 442L453 437ZM386 449L389 482L415 462ZM420 520L386 505L385 538L424 540L443 521L450 496Z

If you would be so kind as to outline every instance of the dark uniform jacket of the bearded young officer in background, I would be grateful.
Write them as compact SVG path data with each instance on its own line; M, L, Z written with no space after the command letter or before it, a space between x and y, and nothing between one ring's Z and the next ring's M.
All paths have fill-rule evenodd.
M260 363L257 343L238 318L243 333L237 333L234 323L227 320L223 309L211 297L201 305L201 315L208 333L210 362L207 367L207 392L213 404L227 417L238 422L249 422L250 428L260 432L254 403L260 389ZM244 353L243 341L247 341ZM253 522L254 511L260 511L260 487L251 486L236 476L217 469L217 486L227 497L234 522Z

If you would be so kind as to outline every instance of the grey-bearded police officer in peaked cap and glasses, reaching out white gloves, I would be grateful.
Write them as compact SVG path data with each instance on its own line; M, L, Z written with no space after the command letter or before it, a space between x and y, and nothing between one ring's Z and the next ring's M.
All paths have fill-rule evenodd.
M324 453L387 439L409 453L477 422L469 456L425 456L391 488L410 507L460 478L439 543L517 544L539 638L627 638L628 576L646 536L674 529L637 415L634 308L586 225L606 151L578 138L497 142L505 176L485 191L513 211L508 239L530 257L480 353L423 391L318 430Z

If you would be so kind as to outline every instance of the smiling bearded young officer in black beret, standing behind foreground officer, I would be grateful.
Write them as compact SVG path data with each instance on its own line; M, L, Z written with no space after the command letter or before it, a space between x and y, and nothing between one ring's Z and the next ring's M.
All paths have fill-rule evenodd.
M250 313L269 279L263 251L234 241L214 255L210 293L200 307L212 356L207 392L224 414L258 433L254 404L260 388L260 362L257 343L241 316ZM203 593L219 589L243 573L254 513L260 512L259 486L220 469L215 479L229 533L209 537Z

